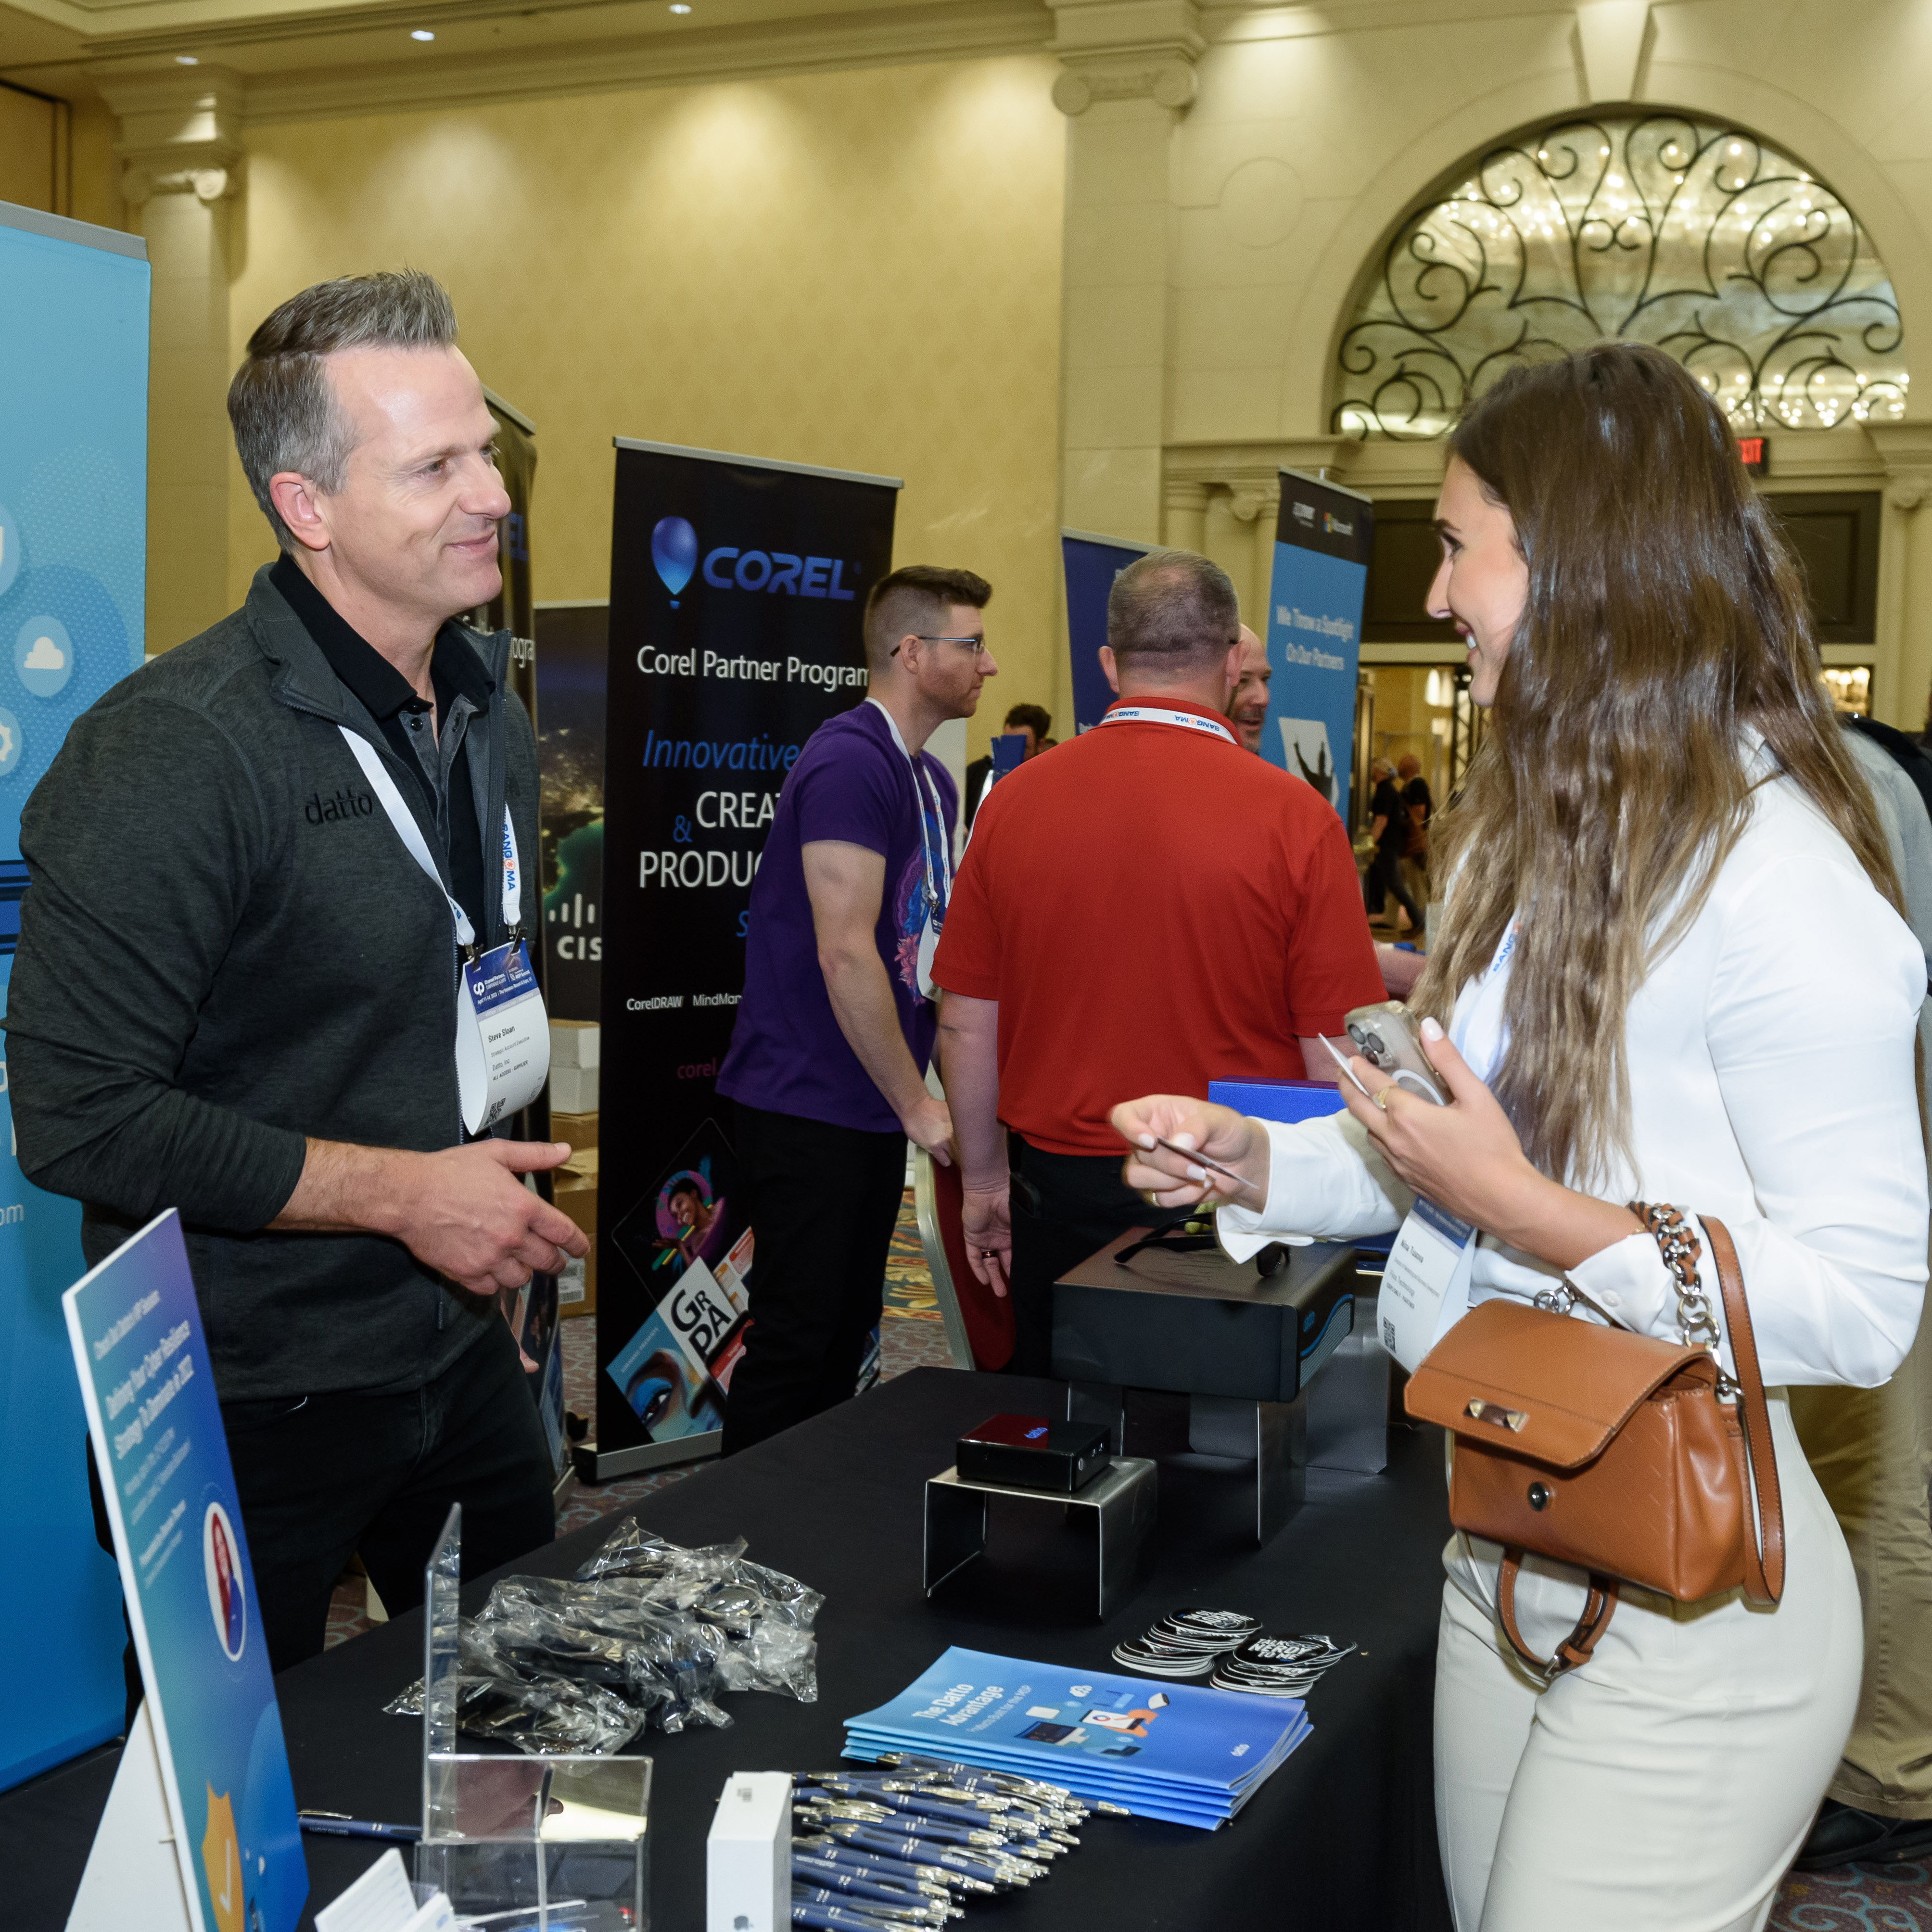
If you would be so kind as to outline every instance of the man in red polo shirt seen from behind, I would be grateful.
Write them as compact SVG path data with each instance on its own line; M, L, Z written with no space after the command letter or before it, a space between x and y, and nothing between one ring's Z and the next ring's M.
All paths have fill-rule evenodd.
M1022 1376L1051 1374L1055 1279L1148 1219L1107 1111L1333 1078L1318 1036L1385 997L1341 819L1227 723L1227 574L1136 560L1099 655L1119 701L987 794L933 962L968 1254L1010 1279Z

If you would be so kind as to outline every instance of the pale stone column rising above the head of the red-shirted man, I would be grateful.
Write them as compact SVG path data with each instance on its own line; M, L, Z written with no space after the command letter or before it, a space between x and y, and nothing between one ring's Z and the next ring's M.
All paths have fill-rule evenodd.
M1053 0L1068 116L1063 522L1161 541L1169 143L1206 41L1194 0Z

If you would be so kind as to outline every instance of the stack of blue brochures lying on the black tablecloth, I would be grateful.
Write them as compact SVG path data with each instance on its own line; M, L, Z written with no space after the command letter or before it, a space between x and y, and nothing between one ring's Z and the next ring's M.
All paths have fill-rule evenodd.
M949 1650L846 1719L846 1756L910 1750L1066 1785L1146 1818L1227 1824L1308 1735L1300 1698Z

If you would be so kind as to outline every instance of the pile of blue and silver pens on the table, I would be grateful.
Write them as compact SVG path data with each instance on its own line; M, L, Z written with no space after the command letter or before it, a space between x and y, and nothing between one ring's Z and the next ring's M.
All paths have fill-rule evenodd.
M794 1779L792 1922L823 1932L943 1926L966 1901L1045 1878L1090 1810L1065 1785L895 1754Z

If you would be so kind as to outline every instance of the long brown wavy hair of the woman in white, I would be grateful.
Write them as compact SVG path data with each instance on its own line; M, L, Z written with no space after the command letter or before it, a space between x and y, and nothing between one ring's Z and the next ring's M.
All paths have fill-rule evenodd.
M1602 342L1511 369L1449 450L1515 520L1530 585L1434 838L1453 895L1416 1009L1447 1024L1520 910L1495 1092L1546 1175L1602 1180L1631 1159L1631 995L1750 815L1745 726L1895 908L1899 885L1799 572L1683 363Z

